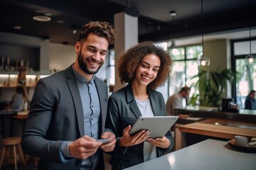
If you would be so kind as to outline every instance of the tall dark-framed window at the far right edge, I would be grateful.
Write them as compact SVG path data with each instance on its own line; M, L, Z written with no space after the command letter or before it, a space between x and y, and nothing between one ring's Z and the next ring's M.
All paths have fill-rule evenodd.
M250 54L250 40L234 40L232 45L232 68L240 73L233 87L233 96L238 108L245 108L245 98L256 89L256 64L248 64L245 57ZM251 40L251 54L256 54L256 40Z

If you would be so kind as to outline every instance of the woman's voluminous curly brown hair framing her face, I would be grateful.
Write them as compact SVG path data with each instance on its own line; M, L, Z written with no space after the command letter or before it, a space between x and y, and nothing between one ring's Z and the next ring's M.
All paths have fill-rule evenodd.
M138 45L132 46L127 52L119 57L118 71L121 83L130 83L134 79L134 74L139 67L142 59L149 54L158 56L161 60L159 72L156 79L147 87L156 89L163 86L170 77L172 70L172 60L168 52L161 47L156 47L151 41L140 42Z

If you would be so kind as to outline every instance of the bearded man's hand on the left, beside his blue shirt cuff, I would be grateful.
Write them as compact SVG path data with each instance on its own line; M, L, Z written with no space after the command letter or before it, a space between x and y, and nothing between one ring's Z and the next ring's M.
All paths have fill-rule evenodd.
M87 159L87 157L95 154L100 145L102 145L102 142L96 142L92 137L85 135L71 142L70 145L68 145L68 149L71 157Z

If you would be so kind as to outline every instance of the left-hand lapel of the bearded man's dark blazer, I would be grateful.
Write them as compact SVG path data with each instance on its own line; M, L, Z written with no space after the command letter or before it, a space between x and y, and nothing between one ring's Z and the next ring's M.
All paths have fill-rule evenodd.
M71 95L74 101L75 105L75 113L76 113L76 118L78 121L78 128L80 132L80 136L82 137L85 135L85 130L84 130L84 118L83 118L83 111L82 111L82 103L80 99L80 93L78 90L78 84L75 79L75 74L73 72L72 66L70 66L68 69L66 69L66 76L67 76L67 84L70 88Z

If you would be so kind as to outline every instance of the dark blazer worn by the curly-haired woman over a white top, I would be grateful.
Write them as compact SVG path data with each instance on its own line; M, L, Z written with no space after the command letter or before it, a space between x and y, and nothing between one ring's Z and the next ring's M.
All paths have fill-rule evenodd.
M148 94L154 115L166 115L166 106L162 94L159 91L150 89L148 90ZM139 116L142 116L142 114L139 111L130 84L110 96L108 100L106 128L112 130L117 137L116 147L111 153L112 157L110 159L112 169L125 169L144 162L143 142L132 147L119 147L119 139L122 137L124 128L128 125L133 125ZM171 133L167 132L165 136L171 141L171 145L168 149L157 147L157 157L160 157L174 147L174 138L171 137Z

